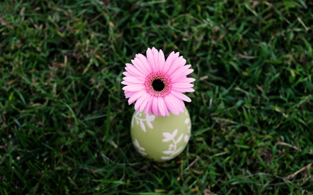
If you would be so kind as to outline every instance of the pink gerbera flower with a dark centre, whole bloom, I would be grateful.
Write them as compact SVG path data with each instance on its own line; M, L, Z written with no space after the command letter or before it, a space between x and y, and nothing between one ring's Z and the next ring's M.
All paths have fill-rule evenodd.
M193 72L191 65L185 65L186 60L179 52L172 51L165 60L163 51L154 47L147 49L147 58L136 54L126 64L125 77L122 84L128 103L135 103L135 110L144 111L146 115L170 116L169 112L179 115L184 112L184 101L191 102L184 92L194 92L194 78L187 78Z

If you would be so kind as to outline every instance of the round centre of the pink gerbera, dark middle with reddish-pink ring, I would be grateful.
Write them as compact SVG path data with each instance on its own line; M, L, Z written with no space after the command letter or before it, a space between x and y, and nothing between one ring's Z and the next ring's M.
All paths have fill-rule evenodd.
M166 96L171 88L170 78L161 72L152 73L145 79L145 90L152 96Z

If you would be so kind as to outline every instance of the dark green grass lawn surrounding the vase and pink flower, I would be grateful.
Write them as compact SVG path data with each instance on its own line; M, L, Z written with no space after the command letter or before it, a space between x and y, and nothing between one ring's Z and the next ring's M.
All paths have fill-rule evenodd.
M1 194L313 194L312 1L105 2L0 3ZM152 46L196 78L162 163L120 84Z

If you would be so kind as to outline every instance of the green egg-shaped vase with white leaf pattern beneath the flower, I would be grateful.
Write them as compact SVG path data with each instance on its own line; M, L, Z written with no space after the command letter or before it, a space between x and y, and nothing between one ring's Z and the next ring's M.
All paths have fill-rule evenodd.
M135 149L146 158L161 162L175 158L184 151L191 136L191 119L186 108L170 117L134 112L131 139Z

